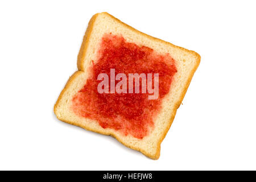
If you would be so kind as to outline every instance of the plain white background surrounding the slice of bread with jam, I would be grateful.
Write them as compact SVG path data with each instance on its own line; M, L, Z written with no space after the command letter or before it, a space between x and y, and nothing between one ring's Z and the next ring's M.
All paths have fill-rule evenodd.
M255 7L255 1L1 1L0 169L256 169ZM53 114L77 69L89 19L102 11L201 55L159 160Z

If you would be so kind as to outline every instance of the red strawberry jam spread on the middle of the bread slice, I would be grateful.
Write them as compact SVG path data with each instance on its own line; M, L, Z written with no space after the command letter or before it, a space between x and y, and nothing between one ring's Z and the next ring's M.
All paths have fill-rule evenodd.
M175 60L168 53L160 54L111 33L102 37L97 54L97 60L92 60L90 78L73 97L71 109L80 117L97 121L104 129L142 139L154 129L154 118L177 72ZM102 80L97 80L97 77L106 73L110 78L110 69L115 69L115 75L125 73L127 82L129 73L159 73L159 97L149 100L148 92L99 93L97 86ZM118 82L116 80L115 84Z

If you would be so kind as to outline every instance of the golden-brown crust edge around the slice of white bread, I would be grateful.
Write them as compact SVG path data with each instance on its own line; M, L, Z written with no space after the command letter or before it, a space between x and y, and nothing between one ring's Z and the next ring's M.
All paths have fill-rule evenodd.
M74 123L72 121L67 121L65 119L62 119L62 118L59 118L56 114L56 109L57 109L57 105L59 104L59 101L61 100L61 98L63 97L63 94L65 92L65 90L67 90L67 88L69 87L69 85L73 82L73 80L76 79L77 76L79 76L80 74L82 74L84 72L83 70L83 64L84 64L84 58L85 58L85 55L86 55L86 50L88 48L88 41L90 39L90 35L92 33L92 30L93 30L93 24L97 18L97 16L99 14L105 14L105 15L108 15L108 16L111 16L113 19L117 20L119 23L123 24L123 26L129 28L130 30L132 31L135 31L137 32L137 34L142 34L144 36L147 36L148 39L152 39L154 41L157 41L157 42L161 42L161 43L164 43L164 44L167 44L168 46L172 46L172 47L176 47L176 48L179 48L179 49L182 49L183 51L186 51L188 53L191 53L192 55L194 55L196 57L196 64L195 64L195 67L192 69L192 72L191 72L191 75L189 76L188 78L188 81L187 83L185 84L185 87L184 87L184 90L179 98L179 100L175 103L175 109L172 111L172 115L171 115L171 119L168 123L168 127L166 127L166 130L164 131L164 133L162 134L162 137L160 137L159 141L158 141L158 147L157 147L157 151L156 151L156 154L155 155L152 155L150 154L149 152L147 151L144 151L142 150L141 148L138 148L138 147L134 147L134 146L129 146L128 144L122 142L122 140L117 136L115 135L115 133L108 133L108 132L101 132L101 131L98 131L98 130L93 130L93 129L89 129L85 126L82 126L80 125L80 123ZM80 48L80 52L79 52L79 55L77 56L77 68L79 69L79 71L73 73L73 75L71 77L69 77L69 80L67 82L67 84L65 85L64 89L61 91L60 93L60 96L59 98L57 99L56 101L56 104L54 106L54 112L57 116L57 118L60 120L60 121L63 121L63 122L66 122L66 123L69 123L69 124L72 124L72 125L76 125L76 126L79 126L79 127L82 127L84 128L85 130L89 130L89 131L93 131L93 132L96 132L96 133L100 133L100 134L103 134L103 135L111 135L112 137L114 137L115 139L117 139L120 143L122 143L123 145L133 149L133 150L137 150L137 151L140 151L142 152L142 154L148 156L148 158L151 158L151 159L159 159L159 156L160 156L160 144L162 143L164 137L166 137L166 134L168 133L168 130L170 129L171 125L172 125L172 122L174 121L174 118L175 118L175 115L176 115L176 111L177 109L179 108L181 102L183 101L183 98L185 96L185 93L187 92L187 89L188 89L188 86L192 80L192 77L197 69L197 67L199 66L200 64L200 55L198 53L196 53L195 51L190 51L188 49L185 49L183 47L179 47L179 46L175 46L174 44L171 44L171 43L168 43L168 42L165 42L164 40L161 40L161 39L158 39L158 38L154 38L150 35L147 35L147 34L144 34L143 32L140 32L138 30L136 30L135 28L121 22L121 20L115 18L114 16L104 12L104 13L98 13L98 14L95 14L92 16L92 18L90 19L90 22L88 24L88 28L86 29L86 32L85 32L85 35L84 35L84 39L82 41L82 45L81 45L81 48Z

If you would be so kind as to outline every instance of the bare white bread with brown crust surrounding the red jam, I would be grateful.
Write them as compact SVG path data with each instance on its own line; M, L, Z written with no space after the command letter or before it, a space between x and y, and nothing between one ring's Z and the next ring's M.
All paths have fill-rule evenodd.
M96 60L97 49L102 36L109 32L114 35L122 35L127 42L150 47L160 53L169 53L176 61L177 73L174 75L170 92L163 98L162 109L154 119L154 130L143 139L138 139L131 135L125 136L114 129L104 129L97 121L79 117L70 109L72 98L83 88L89 77L88 73L93 64L92 60ZM69 78L55 104L54 112L61 121L96 133L112 135L125 146L141 151L142 154L151 159L158 159L160 156L160 143L171 127L176 110L184 98L199 63L200 55L194 51L189 51L143 34L108 13L95 14L90 19L78 55L77 67L79 71Z

